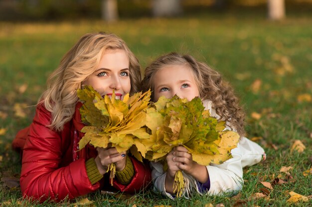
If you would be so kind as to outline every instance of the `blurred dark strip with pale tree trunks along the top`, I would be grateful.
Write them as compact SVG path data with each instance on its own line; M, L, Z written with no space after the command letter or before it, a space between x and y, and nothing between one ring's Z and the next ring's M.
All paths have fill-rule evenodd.
M200 12L259 11L272 19L311 15L312 0L0 0L0 20L42 21L191 15Z

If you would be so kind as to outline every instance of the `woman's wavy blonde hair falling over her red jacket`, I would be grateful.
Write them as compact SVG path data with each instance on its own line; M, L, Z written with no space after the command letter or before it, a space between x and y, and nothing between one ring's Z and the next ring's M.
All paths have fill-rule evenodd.
M59 66L47 80L47 90L39 98L38 104L44 104L52 115L48 127L61 131L64 124L73 118L78 101L76 90L81 88L81 83L97 69L106 49L125 50L129 58L130 94L138 92L141 67L127 44L115 34L85 34L63 56Z

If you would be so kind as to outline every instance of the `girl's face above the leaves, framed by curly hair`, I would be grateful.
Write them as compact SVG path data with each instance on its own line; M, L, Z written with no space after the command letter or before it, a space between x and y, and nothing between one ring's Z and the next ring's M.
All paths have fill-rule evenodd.
M199 96L193 73L186 65L170 65L161 68L155 74L154 83L155 101L160 96L171 98L175 94L188 101Z

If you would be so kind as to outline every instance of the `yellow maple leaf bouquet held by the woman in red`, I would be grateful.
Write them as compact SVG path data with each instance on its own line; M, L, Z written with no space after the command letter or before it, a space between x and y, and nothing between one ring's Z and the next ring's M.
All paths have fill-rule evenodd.
M142 148L141 139L149 139L146 132L146 112L150 101L151 91L136 93L133 96L126 94L123 100L115 99L107 95L103 98L91 86L78 89L77 95L83 103L80 108L81 120L85 127L81 132L85 133L79 141L79 149L83 149L88 143L94 147L107 148L109 144L118 152L130 149L139 161L142 162L138 148ZM110 164L110 179L113 185L116 166Z

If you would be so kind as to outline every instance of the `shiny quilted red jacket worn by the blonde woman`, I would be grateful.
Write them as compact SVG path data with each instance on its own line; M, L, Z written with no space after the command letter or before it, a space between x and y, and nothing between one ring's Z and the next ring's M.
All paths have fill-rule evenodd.
M12 147L20 149L22 168L20 187L24 197L32 197L45 201L51 198L61 201L68 197L73 199L94 192L101 186L110 186L107 177L91 185L87 176L85 162L96 157L94 147L87 145L76 152L78 142L83 133L79 130L84 126L81 123L77 104L74 118L64 125L61 132L48 127L51 113L42 105L37 106L36 115L30 127L20 130ZM139 192L151 182L151 170L148 166L132 158L135 175L127 186L114 180L114 188L122 192Z

